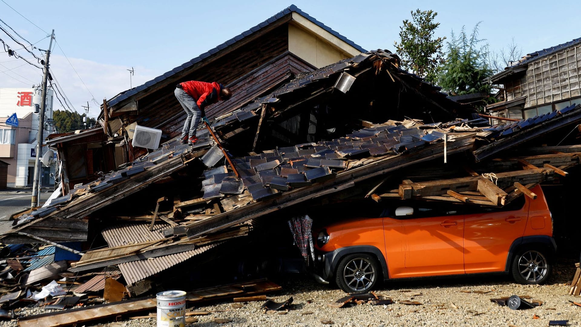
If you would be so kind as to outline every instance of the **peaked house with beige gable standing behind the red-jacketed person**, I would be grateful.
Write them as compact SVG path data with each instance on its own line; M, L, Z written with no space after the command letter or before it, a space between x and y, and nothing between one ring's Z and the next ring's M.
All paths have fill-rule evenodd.
M101 168L107 169L103 171L109 171L147 153L144 148L132 147L133 126L162 130L162 142L181 133L185 112L174 95L177 83L202 80L227 85L232 90L232 98L206 108L207 117L213 119L271 93L299 73L352 58L364 51L291 5L191 61L109 99L98 118L101 126L106 126L102 147L94 145L98 134L89 137L86 143L83 143L84 137L73 135L63 135L51 143L59 144L59 158L95 162L95 169L97 163L103 163ZM68 158L63 152L69 141L80 149L74 158ZM69 178L69 168L63 167L63 179L68 181L66 190L77 182L95 179L91 175L94 169L77 168L77 172L87 172L87 176ZM80 177L83 173L76 175Z

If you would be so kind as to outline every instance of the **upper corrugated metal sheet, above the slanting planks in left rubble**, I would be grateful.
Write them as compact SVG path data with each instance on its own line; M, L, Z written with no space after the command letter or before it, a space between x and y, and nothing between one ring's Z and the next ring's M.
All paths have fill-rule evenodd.
M169 228L167 223L156 222L149 231L149 223L123 223L105 228L101 234L110 247L142 243L163 239L163 229Z

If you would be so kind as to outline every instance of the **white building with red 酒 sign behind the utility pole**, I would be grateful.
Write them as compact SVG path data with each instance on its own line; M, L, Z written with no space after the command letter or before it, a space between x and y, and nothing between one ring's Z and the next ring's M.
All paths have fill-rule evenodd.
M0 88L0 160L7 162L8 187L30 187L33 184L35 147L38 138L38 123L42 90L37 88ZM46 91L46 111L44 137L53 133L52 126L53 91ZM18 127L6 124L6 120L16 113ZM42 154L46 152L43 147ZM42 154L40 154L42 156ZM41 184L54 183L50 177L54 167L43 167Z

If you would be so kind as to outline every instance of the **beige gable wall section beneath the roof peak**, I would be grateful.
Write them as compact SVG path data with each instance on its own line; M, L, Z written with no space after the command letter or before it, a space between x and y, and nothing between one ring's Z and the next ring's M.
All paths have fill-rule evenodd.
M300 15L289 23L289 51L320 68L360 54L356 48Z

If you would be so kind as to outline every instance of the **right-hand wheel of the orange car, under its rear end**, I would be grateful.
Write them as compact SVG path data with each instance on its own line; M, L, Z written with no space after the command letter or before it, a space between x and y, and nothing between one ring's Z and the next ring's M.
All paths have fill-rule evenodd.
M546 255L537 250L526 250L512 260L512 278L520 284L541 284L546 282L552 268Z

